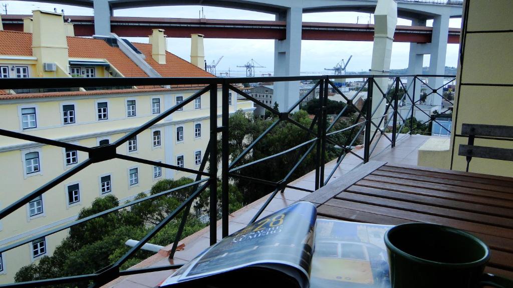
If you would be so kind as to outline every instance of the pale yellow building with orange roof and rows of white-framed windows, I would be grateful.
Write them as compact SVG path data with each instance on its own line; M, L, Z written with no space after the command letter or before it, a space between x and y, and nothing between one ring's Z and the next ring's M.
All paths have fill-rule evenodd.
M2 78L149 76L144 74L148 67L135 69L139 67L136 61L128 63L130 58L125 52L108 46L102 39L66 36L70 32L64 29L60 14L34 11L33 20L29 23L32 27L27 27L27 30L31 28L33 33L0 31L0 39L9 43L4 50L0 48ZM63 28L61 32L57 31L61 40L57 39L55 45L48 42L48 36L55 38L55 29L50 35L48 25ZM37 27L46 28L38 30ZM155 41L155 37L164 36L160 32L156 31L153 35L152 43L155 45L163 43ZM34 36L37 33L41 35ZM62 41L63 38L67 41ZM80 49L90 46L94 51L77 52L73 50L77 43ZM135 44L141 51L149 51L145 61L154 71L162 71L166 65L169 65L167 69L180 65L181 71L176 72L176 76L210 75L169 52L165 52L164 56L157 53L157 62L151 55L152 50L155 50L149 49L151 45ZM102 57L103 52L108 56ZM64 57L63 54L68 56ZM128 87L113 90L78 88L75 91L57 92L38 89L0 90L0 128L95 147L120 139L187 99L198 89ZM222 102L221 94L219 90L219 105ZM239 109L252 112L251 102L238 101L237 95L232 94L230 112ZM209 95L205 94L124 143L117 148L117 153L197 170L209 140L209 111ZM221 115L220 106L218 115ZM220 117L218 122L221 123ZM0 181L4 184L0 189L0 208L75 167L87 156L87 153L81 151L1 137L0 170L3 173L0 173ZM141 192L148 192L160 179L193 176L186 172L120 159L92 164L32 200L26 207L0 220L0 246L75 220L80 210L89 207L96 197L115 195L120 201L126 201ZM66 235L67 230L64 230L2 253L0 283L12 282L19 268L45 255L51 255Z

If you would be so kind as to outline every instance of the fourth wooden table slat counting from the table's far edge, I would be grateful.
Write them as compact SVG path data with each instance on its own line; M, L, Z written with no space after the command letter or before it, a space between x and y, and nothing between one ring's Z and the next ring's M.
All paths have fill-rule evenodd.
M467 211L451 210L447 208L431 206L428 203L418 204L401 200L392 200L369 195L355 194L350 192L342 192L335 198L370 205L379 205L381 207L400 209L404 211L417 212L426 215L440 216L445 218L458 219L463 221L495 225L497 227L513 229L513 221L511 221L511 219L508 218L483 215Z

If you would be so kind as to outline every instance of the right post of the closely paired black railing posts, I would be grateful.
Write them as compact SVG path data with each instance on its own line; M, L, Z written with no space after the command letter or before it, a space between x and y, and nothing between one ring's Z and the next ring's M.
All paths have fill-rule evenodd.
M229 161L229 156L230 156L230 151L229 151L229 145L228 145L228 138L229 138L229 133L230 133L230 130L229 130L229 120L230 120L230 107L229 107L229 101L228 101L228 97L229 97L229 91L228 91L228 83L225 80L223 80L223 100L221 101L222 103L222 125L223 125L223 132L222 132L222 147L221 147L221 154L222 154L222 159L221 159L221 171L222 171L222 174L221 174L221 187L222 187L222 229L223 229L223 232L222 232L222 236L223 238L228 236L228 214L229 214L229 203L228 203L228 161ZM237 99L235 99L236 101ZM233 99L232 99L233 101Z

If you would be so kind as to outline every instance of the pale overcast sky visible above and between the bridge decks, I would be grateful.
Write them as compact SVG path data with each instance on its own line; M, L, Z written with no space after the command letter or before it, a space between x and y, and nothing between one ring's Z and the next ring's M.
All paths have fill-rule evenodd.
M4 4L7 4L8 14L31 14L32 10L41 9L57 11L64 9L68 15L93 15L89 8L46 4L38 2L0 1L1 13L5 14ZM236 10L209 6L166 6L148 7L136 9L114 10L114 16L140 16L140 17L171 17L171 18L198 18L199 11L203 8L206 18L212 19L247 19L247 20L274 20L274 15L253 11ZM329 23L358 23L367 24L369 14L356 12L324 12L305 13L305 22L329 22ZM373 23L372 17L370 20ZM432 22L428 22L431 26ZM398 25L411 25L406 19L398 19ZM461 19L451 19L449 27L460 28ZM148 43L148 38L129 38L133 42ZM324 73L324 68L332 68L341 59L352 59L347 66L347 71L368 71L372 56L372 42L350 41L320 41L303 40L301 49L301 71ZM457 66L458 44L447 46L446 66ZM186 60L190 59L189 38L168 38L168 50ZM218 73L230 69L231 71L244 71L244 68L236 66L244 65L250 59L254 59L266 68L258 68L260 73L273 71L274 40L260 39L212 39L205 38L205 56L207 63L224 56L218 65ZM392 48L391 69L401 69L408 66L408 43L394 43ZM429 65L429 55L424 57L424 66Z

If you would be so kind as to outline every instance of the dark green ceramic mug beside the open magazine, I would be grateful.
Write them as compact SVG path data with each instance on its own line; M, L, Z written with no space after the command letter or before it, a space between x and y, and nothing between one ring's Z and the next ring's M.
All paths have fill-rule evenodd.
M385 234L392 288L513 287L513 281L483 273L486 244L458 229L406 223Z

